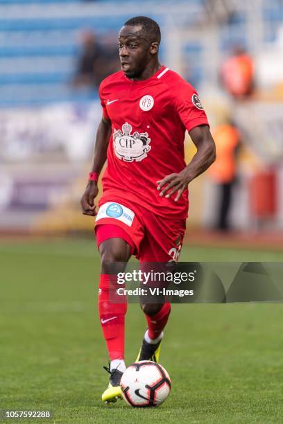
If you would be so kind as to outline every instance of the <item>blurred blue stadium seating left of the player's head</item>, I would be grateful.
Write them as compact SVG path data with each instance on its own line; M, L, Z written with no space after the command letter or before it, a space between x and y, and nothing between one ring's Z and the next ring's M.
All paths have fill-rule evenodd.
M78 35L83 28L95 28L98 35L109 30L116 32L121 18L89 17L87 12L83 17L62 19L56 17L56 12L48 19L37 16L36 10L42 12L44 3L49 2L54 3L52 8L56 4L61 8L60 3L82 4L78 0L0 0L0 107L87 101L97 96L92 89L88 92L71 89L80 48ZM11 3L21 3L21 8L23 4L37 3L37 8L34 14L29 9L28 18L5 19L5 10L13 13Z

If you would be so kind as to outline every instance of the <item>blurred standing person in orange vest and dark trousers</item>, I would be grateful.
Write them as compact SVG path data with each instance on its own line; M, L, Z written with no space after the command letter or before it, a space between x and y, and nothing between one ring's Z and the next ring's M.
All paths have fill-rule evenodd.
M237 151L240 134L231 123L218 125L212 132L216 144L216 161L209 168L209 176L218 186L216 229L229 231L229 211L232 190L237 177Z

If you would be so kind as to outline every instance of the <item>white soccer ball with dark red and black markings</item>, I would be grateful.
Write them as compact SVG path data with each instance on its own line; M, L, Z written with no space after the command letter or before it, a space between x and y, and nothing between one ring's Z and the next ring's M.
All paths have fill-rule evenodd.
M152 361L130 365L121 378L123 398L132 407L157 407L171 391L166 369Z

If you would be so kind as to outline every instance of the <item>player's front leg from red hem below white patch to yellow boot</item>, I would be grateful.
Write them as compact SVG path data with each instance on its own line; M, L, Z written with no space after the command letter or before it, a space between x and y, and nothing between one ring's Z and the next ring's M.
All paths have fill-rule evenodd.
M127 311L126 296L117 295L117 289L123 285L117 283L117 274L123 272L125 263L132 254L132 245L125 240L123 229L101 225L96 228L99 252L101 254L101 276L98 290L98 311L103 336L110 358L110 383L102 395L105 402L114 402L121 398L120 380L125 371L124 330ZM103 240L109 231L114 238ZM106 234L106 236L105 236ZM103 240L103 241L101 241Z

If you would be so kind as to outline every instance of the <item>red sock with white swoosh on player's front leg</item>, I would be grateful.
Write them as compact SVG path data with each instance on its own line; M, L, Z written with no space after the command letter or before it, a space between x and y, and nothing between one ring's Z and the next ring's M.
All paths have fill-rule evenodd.
M101 274L98 291L98 310L110 360L124 358L125 315L127 297L116 293L123 285L117 275ZM114 303L119 301L120 303Z

